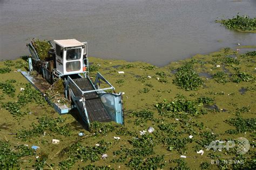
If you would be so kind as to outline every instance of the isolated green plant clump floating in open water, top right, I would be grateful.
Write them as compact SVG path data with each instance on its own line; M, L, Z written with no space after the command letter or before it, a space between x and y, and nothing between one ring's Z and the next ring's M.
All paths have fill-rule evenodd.
M233 17L232 19L215 20L217 23L223 24L227 29L255 32L256 31L256 18L250 18L249 16Z

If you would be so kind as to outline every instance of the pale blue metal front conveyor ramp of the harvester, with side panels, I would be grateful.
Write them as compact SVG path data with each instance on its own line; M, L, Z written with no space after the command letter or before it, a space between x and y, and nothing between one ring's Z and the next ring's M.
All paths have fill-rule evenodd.
M100 89L97 86L99 80L110 84L99 73L95 83L92 83L87 76L78 79L71 79L68 76L65 88L66 97L68 98L69 94L84 122L89 126L93 121L114 121L123 124L122 95L120 93L106 93L104 90L114 90L114 87L110 84L111 87Z

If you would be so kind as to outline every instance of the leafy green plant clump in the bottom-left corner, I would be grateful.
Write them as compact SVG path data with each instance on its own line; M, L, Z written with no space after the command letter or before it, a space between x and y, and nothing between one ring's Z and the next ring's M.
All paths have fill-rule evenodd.
M0 140L0 169L19 169L21 158L35 155L35 150L25 145L11 148L7 141Z

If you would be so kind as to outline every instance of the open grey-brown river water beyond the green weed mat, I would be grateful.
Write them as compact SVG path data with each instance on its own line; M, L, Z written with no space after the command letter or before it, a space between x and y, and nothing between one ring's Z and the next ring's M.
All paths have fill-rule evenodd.
M31 38L88 42L89 56L170 61L221 47L256 45L256 34L215 23L256 17L255 0L0 0L0 59L28 55Z

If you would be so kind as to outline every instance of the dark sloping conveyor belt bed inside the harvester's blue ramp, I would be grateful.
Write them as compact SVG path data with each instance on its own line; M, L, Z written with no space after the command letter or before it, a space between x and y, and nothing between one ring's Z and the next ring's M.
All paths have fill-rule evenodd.
M93 90L92 84L89 82L87 78L81 79L73 79L73 81L77 84L77 86L83 90ZM73 93L78 94L76 89L72 88ZM99 121L99 122L110 122L112 121L109 114L107 113L102 101L96 94L96 92L85 93L85 105L87 114L89 116L90 122ZM82 106L82 105L81 105Z

